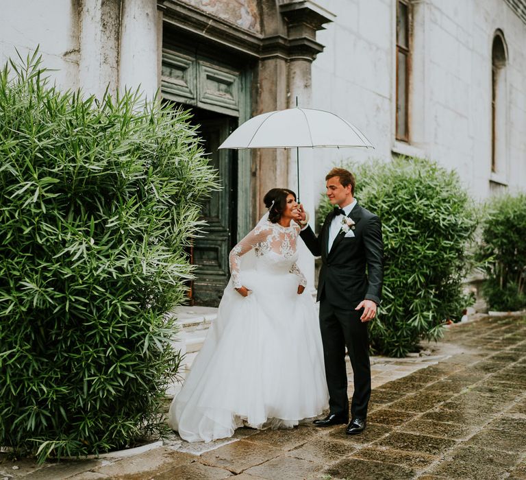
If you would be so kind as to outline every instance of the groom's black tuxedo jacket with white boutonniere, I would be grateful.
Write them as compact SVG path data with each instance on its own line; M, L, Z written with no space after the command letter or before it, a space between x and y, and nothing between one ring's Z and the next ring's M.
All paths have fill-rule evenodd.
M327 300L340 309L354 309L362 300L381 299L384 278L384 243L380 219L356 204L347 215L355 221L354 236L345 237L340 230L329 252L329 229L334 212L329 213L320 235L312 228L300 232L301 238L314 256L321 256L317 300Z

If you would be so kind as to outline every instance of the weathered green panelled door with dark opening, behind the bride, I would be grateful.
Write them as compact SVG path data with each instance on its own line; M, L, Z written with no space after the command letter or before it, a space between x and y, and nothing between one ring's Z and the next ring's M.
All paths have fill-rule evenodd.
M203 205L208 222L203 236L192 247L196 279L192 281L192 304L216 307L229 279L228 254L250 228L250 156L245 152L218 150L229 133L249 116L249 69L238 56L181 45L163 38L162 97L193 114L210 162L218 170L221 191Z

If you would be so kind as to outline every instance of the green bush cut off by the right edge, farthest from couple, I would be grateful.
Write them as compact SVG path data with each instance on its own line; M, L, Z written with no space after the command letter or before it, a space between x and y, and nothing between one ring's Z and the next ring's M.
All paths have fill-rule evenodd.
M492 198L481 222L477 259L486 280L482 293L492 310L526 307L526 194Z

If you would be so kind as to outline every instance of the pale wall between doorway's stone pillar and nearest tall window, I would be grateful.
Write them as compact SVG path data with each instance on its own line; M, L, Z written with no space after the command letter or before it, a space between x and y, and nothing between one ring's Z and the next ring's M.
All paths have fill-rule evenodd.
M392 5L381 0L325 0L336 21L318 32L325 51L312 64L312 106L344 117L375 149L316 149L315 182L347 158L390 155L392 115Z

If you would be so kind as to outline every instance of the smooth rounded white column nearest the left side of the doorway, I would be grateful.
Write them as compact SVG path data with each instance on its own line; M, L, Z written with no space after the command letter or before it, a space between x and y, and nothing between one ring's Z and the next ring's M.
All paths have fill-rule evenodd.
M159 27L155 0L123 0L118 88L140 88L153 98L159 81ZM160 33L161 32L161 33Z

